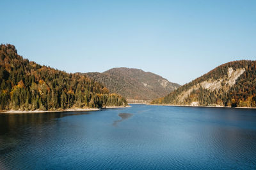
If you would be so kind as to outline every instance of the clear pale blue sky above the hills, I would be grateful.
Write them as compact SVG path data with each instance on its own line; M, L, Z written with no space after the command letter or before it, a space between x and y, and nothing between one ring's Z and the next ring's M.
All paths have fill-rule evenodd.
M187 83L256 59L256 1L1 1L0 43L67 72L134 67Z

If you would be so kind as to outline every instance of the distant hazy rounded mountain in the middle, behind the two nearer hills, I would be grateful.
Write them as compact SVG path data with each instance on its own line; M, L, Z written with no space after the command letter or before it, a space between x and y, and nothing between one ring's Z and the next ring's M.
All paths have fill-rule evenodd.
M180 87L177 83L141 69L118 67L104 73L85 74L105 85L110 92L126 97L129 102L150 101Z

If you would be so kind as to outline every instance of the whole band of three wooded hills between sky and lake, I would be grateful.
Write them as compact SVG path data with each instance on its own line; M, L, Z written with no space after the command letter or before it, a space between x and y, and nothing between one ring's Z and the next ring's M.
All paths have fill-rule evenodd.
M256 61L237 60L180 86L141 69L65 73L0 46L0 110L65 111L128 103L255 108Z

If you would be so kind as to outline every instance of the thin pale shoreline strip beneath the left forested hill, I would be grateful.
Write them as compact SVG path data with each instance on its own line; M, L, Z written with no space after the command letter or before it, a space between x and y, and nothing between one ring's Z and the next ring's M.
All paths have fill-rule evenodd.
M102 109L114 109L114 108L129 108L131 106L106 106L106 108L69 108L66 110L30 110L30 111L22 111L22 110L4 110L0 111L1 113L51 113L51 112L65 112L65 111L98 111Z

